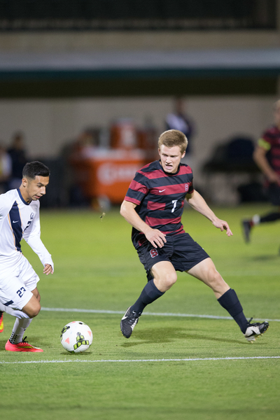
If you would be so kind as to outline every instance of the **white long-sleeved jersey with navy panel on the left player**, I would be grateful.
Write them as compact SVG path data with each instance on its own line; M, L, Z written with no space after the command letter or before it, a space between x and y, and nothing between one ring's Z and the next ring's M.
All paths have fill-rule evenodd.
M20 190L0 195L0 269L12 267L22 256L20 241L25 239L43 266L53 262L41 241L38 201L25 202Z

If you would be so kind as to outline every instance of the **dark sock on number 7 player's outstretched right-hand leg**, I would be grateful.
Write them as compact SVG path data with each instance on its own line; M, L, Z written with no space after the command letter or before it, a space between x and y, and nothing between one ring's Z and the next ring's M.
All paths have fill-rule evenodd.
M243 308L241 303L235 293L235 290L227 290L221 297L218 298L219 304L228 311L230 316L235 320L239 325L240 330L245 333L248 326L248 321L243 313Z

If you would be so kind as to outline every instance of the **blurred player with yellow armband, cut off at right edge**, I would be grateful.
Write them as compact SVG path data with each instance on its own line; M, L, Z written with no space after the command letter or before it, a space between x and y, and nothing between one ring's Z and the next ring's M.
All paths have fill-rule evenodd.
M251 219L242 221L246 242L250 241L253 226L280 219L280 100L274 104L274 125L262 134L253 158L265 175L265 189L269 202L278 209L264 216L255 214Z

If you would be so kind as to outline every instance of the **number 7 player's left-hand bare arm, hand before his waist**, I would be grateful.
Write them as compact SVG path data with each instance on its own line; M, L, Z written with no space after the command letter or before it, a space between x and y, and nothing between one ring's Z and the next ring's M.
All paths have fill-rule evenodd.
M121 216L123 216L135 229L139 230L139 232L143 232L148 241L150 241L155 248L158 248L158 246L162 248L166 242L165 234L158 229L151 228L147 223L142 221L141 217L134 210L136 206L137 204L124 200L123 204L120 206Z

